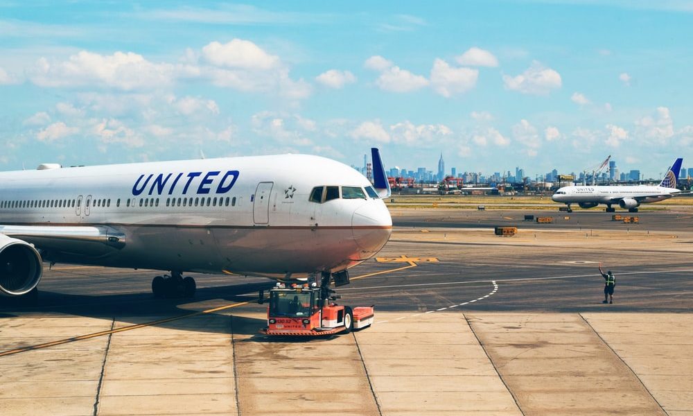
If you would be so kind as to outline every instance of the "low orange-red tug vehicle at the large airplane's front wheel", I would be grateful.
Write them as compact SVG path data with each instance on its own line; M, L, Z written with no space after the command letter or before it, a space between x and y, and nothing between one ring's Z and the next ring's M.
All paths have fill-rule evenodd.
M278 286L270 290L267 327L260 330L272 336L327 336L349 333L373 323L374 306L349 306L328 303L320 288Z

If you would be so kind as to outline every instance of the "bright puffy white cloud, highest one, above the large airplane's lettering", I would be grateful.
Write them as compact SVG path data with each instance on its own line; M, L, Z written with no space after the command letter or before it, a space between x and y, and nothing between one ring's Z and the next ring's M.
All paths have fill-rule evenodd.
M221 44L211 42L202 48L202 57L217 67L267 70L279 64L279 58L248 40L234 39Z

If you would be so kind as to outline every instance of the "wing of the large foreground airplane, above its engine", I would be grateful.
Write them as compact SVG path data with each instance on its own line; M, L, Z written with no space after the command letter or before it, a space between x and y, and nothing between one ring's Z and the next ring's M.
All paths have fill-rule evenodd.
M0 234L44 250L103 254L125 247L125 234L107 226L0 225Z

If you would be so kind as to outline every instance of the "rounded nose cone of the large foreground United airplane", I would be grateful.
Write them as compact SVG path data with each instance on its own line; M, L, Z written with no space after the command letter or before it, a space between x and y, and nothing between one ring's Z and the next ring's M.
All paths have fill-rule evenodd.
M353 212L351 232L362 258L371 257L387 243L392 233L392 217L381 200L369 200Z

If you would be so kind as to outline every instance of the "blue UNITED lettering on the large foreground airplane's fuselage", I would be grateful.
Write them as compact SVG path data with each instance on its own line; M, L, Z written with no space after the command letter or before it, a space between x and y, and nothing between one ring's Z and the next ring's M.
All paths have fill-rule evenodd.
M143 173L132 185L132 195L173 195L181 193L216 194L227 193L238 180L238 171L209 171L188 173Z

